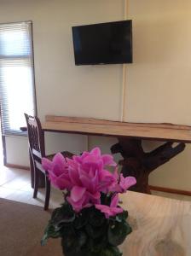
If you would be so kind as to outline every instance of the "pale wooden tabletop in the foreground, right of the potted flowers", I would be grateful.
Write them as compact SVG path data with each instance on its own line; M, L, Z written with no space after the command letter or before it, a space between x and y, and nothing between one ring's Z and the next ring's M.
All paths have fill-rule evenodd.
M123 256L190 256L191 202L128 191L122 195L133 232Z

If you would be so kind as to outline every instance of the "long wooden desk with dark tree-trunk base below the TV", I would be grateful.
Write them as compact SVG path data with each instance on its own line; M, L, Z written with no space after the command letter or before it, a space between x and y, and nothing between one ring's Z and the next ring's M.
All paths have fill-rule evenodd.
M120 153L124 160L124 176L136 177L134 191L150 193L148 176L157 167L181 153L184 143L191 143L191 126L171 124L136 124L102 119L63 117L47 115L43 131L76 133L117 137L119 143L112 146L113 154ZM142 139L165 141L164 145L146 153ZM178 143L175 147L173 143Z

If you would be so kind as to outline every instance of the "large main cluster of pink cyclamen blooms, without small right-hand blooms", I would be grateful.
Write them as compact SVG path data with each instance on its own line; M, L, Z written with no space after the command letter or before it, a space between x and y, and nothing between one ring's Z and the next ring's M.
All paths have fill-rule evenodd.
M43 159L42 163L43 168L49 172L50 182L56 188L71 191L67 201L76 212L99 204L101 192L108 191L116 183L113 173L108 172L106 167L117 164L112 155L101 155L100 148L74 155L72 159L56 154L52 161Z

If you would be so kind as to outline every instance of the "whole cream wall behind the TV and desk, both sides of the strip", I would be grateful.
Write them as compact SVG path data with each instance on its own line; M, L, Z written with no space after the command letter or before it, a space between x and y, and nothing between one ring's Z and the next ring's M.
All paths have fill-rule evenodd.
M191 125L191 2L128 0L134 63L127 65L125 120ZM0 0L0 22L32 20L38 115L47 113L119 119L122 66L75 67L71 26L124 17L124 0ZM49 150L86 148L85 137L47 136ZM108 152L115 139L90 137ZM27 143L26 143L27 144ZM9 161L20 162L11 142ZM64 145L64 148L62 148ZM145 148L156 143L145 142ZM18 149L17 149L18 150ZM150 183L190 190L190 146L153 172Z

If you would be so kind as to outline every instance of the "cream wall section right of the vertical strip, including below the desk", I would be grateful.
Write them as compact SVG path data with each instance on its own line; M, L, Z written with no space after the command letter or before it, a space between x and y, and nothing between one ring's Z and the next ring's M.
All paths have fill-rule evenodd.
M134 64L128 67L126 116L134 122L191 125L191 1L130 0ZM146 148L156 143L145 142ZM154 171L149 183L191 190L191 147Z

